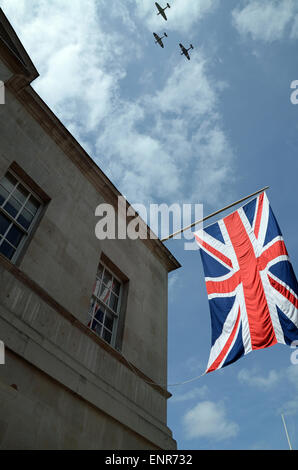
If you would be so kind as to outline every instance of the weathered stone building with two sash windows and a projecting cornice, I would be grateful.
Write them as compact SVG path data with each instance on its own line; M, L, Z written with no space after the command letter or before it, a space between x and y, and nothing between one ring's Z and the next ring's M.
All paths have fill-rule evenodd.
M156 238L96 238L95 208L120 193L37 77L0 10L0 448L175 449L163 384L180 265Z

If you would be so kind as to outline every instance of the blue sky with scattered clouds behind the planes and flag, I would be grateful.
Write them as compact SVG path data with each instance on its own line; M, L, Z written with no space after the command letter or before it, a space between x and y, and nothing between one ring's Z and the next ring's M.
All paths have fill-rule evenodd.
M161 2L163 3L163 2ZM204 204L269 185L298 269L298 5L294 0L0 0L40 72L34 87L131 203ZM167 32L165 48L152 32ZM191 61L178 43L191 42ZM199 252L166 242L169 383L201 374L210 316ZM170 387L180 449L298 448L298 366L282 345Z

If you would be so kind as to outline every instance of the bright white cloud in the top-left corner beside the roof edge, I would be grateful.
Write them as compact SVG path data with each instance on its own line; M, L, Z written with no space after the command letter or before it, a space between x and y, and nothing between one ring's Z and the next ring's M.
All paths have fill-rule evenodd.
M20 4L19 4L20 3ZM94 131L106 116L125 76L126 41L99 25L96 0L1 0L40 78L36 91L58 116Z

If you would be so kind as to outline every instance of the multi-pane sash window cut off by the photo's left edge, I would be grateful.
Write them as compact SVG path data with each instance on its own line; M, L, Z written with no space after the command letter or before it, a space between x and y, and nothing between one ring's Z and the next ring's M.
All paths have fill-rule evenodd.
M0 180L0 253L15 261L42 208L41 200L12 171Z

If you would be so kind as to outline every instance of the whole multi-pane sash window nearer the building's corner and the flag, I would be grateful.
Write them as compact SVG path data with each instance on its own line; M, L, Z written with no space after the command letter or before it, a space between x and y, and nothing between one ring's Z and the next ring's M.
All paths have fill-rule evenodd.
M88 326L115 346L122 283L103 263L99 264L88 312Z

